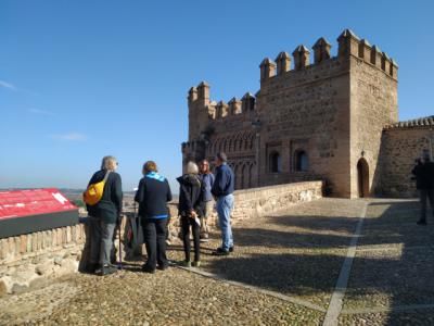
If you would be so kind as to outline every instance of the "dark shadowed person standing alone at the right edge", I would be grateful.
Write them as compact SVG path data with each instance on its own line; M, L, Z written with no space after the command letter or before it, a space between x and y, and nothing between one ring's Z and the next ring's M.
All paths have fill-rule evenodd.
M421 203L421 215L418 224L426 225L427 201L430 201L434 216L434 162L431 161L429 151L423 151L422 159L418 160L411 173L416 177L416 188L419 190Z

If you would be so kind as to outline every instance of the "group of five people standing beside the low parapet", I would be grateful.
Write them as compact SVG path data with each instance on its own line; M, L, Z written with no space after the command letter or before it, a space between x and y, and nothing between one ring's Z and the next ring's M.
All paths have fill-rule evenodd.
M208 239L209 216L214 205L217 210L221 230L221 247L214 255L228 255L233 251L233 236L230 216L233 210L234 175L227 164L227 155L216 155L215 175L209 170L209 162L203 160L199 166L188 162L186 173L177 178L179 183L178 215L180 216L181 237L184 249L183 266L201 265L201 240ZM118 163L114 156L104 156L100 171L95 172L89 185L104 181L103 193L95 204L87 204L90 221L90 256L88 272L108 275L117 271L112 264L115 229L120 226L123 212L123 191L120 175L116 173ZM135 201L139 204L140 218L148 259L142 271L155 273L166 269L167 223L171 201L171 190L167 179L158 173L157 165L148 161L143 165ZM194 260L190 259L190 235L193 236Z

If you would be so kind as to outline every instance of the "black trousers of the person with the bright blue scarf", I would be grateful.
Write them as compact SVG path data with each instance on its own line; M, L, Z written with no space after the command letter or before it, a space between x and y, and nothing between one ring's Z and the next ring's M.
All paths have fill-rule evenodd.
M143 218L143 239L146 244L148 261L145 263L152 269L158 266L166 267L166 225L167 218Z

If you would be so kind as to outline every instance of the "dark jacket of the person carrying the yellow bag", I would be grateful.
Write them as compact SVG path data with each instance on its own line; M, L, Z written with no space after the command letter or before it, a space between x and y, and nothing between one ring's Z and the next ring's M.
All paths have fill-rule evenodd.
M90 178L89 185L104 179L106 170L100 170ZM90 216L102 218L107 224L116 223L123 209L123 191L120 175L111 172L105 180L101 200L94 205L87 205Z

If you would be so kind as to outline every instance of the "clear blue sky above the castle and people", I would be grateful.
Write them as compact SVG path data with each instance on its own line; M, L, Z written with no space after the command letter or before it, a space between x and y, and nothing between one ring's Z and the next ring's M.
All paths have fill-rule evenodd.
M344 28L398 62L400 120L432 115L433 3L0 0L0 188L82 188L105 154L125 190L150 159L175 186L191 86L256 92L265 57Z

